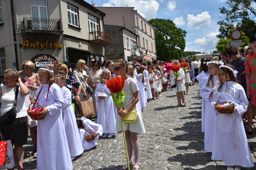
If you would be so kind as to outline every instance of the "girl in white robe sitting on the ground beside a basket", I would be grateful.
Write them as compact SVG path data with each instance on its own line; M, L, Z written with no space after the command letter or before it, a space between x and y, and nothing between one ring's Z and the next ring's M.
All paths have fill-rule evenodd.
M102 136L102 126L92 122L89 119L86 119L85 117L81 117L80 114L75 114L75 117L79 129L80 140L83 144L84 150L86 151L95 147L97 145L99 136ZM92 129L94 132L89 129ZM86 133L85 135L93 134L95 139L90 142L87 142L86 140L84 140L84 133Z

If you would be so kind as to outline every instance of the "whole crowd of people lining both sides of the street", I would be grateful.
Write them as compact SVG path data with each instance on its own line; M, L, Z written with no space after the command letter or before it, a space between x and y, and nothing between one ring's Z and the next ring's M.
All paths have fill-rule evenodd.
M190 61L181 58L181 61L167 59L165 62L144 63L133 57L132 62L125 59L116 62L106 60L102 65L91 58L89 68L80 59L73 70L66 61L55 62L35 72L35 64L25 61L21 71L4 71L5 85L0 87L1 116L13 108L16 90L19 93L16 119L8 123L0 122L1 134L14 145L18 170L23 169L23 145L27 143L28 129L33 149L26 156L39 158L37 169L70 170L73 168L72 160L84 150L95 147L99 136L111 138L113 134L122 132L121 117L135 110L136 121L124 123L124 129L129 164L139 170L137 135L145 133L142 113L148 102L162 97L162 92L172 91L178 99L176 107L185 107L189 86L199 83L203 98L205 151L212 152L213 160L223 160L228 165L227 169L254 166L242 122L248 119L247 133L252 134L251 123L255 121L256 109L256 34L250 37L250 43L246 57L239 55L244 52L243 48L230 46L222 58L191 58ZM107 87L107 81L116 76L125 79L122 109L115 105ZM235 108L228 114L219 114L214 109L214 103L228 99ZM78 103L86 100L92 100L97 122L92 122L90 117L85 118L79 111ZM42 108L41 120L32 120L28 116L27 112L34 107ZM95 139L87 142L84 139L86 134L92 134ZM128 165L122 169L128 169Z

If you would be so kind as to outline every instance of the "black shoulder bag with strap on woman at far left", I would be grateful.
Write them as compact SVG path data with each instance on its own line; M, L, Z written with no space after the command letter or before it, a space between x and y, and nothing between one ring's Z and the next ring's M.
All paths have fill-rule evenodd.
M3 114L0 117L1 124L11 123L16 119L16 115L17 115L16 105L17 105L17 97L18 97L19 87L20 87L20 85L17 84L15 98L14 98L14 107L11 108L9 111L7 111L5 114Z

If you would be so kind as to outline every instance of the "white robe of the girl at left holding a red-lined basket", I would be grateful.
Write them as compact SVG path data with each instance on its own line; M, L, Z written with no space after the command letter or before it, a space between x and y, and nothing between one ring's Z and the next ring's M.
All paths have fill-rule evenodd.
M37 170L71 170L73 166L61 111L62 105L65 105L64 98L60 87L53 83L46 103L48 87L49 84L43 84L35 92L38 97L42 88L37 102L44 107L47 105L48 109L37 125Z

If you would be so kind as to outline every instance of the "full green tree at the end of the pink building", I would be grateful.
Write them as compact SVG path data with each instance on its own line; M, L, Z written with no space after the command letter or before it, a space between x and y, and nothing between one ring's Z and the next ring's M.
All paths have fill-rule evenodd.
M187 31L175 26L170 19L151 19L148 21L155 28L157 56L159 60L180 59L181 51L186 47Z

